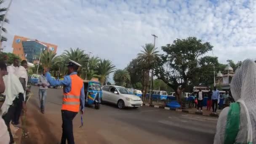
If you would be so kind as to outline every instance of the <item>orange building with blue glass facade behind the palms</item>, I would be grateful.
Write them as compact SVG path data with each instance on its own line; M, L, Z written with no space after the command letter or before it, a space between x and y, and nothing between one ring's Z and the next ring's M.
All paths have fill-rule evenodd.
M41 49L53 51L54 53L57 51L57 45L17 35L13 38L12 48L13 54L19 56L21 60L27 60L29 62L35 61L34 58L36 57L37 59L39 58Z

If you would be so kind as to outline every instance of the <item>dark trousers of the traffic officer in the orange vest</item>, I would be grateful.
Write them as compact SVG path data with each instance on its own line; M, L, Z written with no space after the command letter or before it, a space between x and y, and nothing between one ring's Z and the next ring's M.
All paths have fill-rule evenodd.
M61 144L75 144L73 135L73 119L77 115L77 112L71 112L68 110L61 110L62 117L62 136Z

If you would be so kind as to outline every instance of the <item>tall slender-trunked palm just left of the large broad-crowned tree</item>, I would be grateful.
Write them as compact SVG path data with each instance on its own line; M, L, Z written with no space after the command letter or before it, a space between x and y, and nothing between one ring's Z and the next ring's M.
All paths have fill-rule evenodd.
M152 43L147 43L145 46L142 46L143 51L138 53L137 59L139 64L143 66L143 97L145 97L148 87L149 87L149 70L154 68L155 59L159 56L159 51L156 51L157 48L154 48Z

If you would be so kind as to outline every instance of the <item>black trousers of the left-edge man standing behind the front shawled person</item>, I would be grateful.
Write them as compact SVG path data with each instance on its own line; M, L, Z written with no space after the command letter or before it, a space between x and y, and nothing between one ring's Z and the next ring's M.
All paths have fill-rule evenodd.
M22 93L19 93L19 99L15 99L13 101L14 107L14 113L12 118L12 123L14 125L19 124L19 117L21 116L21 110L22 110L22 102L24 101L24 96Z

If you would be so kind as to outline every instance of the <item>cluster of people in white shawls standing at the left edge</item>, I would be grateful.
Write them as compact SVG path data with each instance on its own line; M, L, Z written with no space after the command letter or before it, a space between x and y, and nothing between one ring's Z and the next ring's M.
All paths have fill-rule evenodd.
M19 59L14 58L10 66L6 61L0 61L0 93L5 96L0 120L5 125L0 129L0 144L14 144L14 139L18 138L16 131L21 128L19 119L22 109L27 111L26 92L30 92L27 82L27 61L21 61L20 65Z

